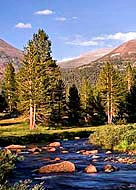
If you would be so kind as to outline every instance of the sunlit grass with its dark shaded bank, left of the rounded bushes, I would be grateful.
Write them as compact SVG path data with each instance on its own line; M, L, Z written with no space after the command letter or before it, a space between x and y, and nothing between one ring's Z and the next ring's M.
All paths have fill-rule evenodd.
M62 129L48 129L38 126L30 131L24 118L7 119L0 121L0 146L8 144L29 144L49 142L55 139L74 139L89 137L97 127L71 127Z

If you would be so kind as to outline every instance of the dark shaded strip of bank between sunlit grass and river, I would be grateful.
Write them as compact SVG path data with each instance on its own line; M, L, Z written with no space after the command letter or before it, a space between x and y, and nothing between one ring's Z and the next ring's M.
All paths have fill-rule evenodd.
M72 140L78 136L80 138L88 138L92 132L80 131L80 132L62 132L53 134L30 134L26 136L8 136L0 137L0 146L4 147L10 144L27 145L31 143L46 143L55 140L69 139Z

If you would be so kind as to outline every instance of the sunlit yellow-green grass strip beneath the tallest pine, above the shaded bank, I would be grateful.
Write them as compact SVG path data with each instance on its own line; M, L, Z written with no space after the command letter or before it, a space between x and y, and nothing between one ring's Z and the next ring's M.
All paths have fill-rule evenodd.
M63 129L48 129L48 127L38 126L30 131L29 125L23 118L7 119L0 121L0 136L25 136L33 134L54 134L63 132L95 131L97 127L71 127Z

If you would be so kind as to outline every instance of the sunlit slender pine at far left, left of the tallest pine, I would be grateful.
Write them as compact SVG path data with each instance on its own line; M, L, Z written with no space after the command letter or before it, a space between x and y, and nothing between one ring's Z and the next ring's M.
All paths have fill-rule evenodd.
M5 98L9 112L15 108L15 69L12 63L8 63L5 68L2 81L2 96Z

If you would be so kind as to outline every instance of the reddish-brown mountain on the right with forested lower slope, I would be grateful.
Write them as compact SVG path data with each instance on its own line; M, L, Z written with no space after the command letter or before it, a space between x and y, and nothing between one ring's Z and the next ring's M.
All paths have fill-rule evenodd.
M132 66L136 66L136 39L123 43L103 57L90 61L89 64L73 69L62 68L63 79L66 84L75 83L78 87L80 87L83 77L94 84L105 61L110 61L122 73L124 73L128 62L131 62Z

